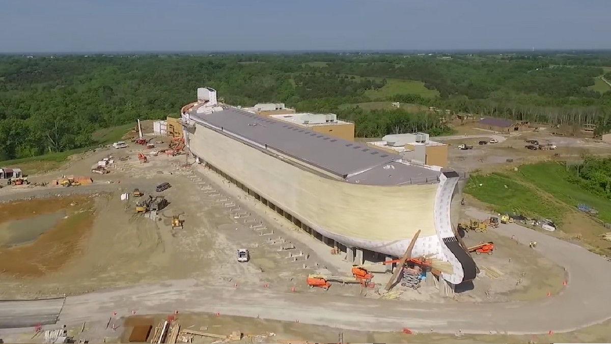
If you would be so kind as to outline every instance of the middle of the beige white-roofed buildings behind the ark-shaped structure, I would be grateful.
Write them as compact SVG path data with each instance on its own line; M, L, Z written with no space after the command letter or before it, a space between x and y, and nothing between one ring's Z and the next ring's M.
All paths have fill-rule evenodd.
M337 119L336 114L285 114L269 115L270 118L308 128L316 133L354 141L354 122Z

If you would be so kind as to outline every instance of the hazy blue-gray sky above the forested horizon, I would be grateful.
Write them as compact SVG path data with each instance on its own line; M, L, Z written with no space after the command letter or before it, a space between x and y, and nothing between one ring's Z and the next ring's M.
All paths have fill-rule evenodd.
M0 0L0 53L611 48L611 0Z

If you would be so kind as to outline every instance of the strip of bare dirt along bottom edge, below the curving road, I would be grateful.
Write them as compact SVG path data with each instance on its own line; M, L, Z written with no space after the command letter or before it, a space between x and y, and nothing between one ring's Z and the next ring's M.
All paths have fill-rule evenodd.
M160 321L172 315L133 316L111 321L96 321L83 326L68 328L68 335L75 342L89 340L90 343L128 343L134 325L150 325L152 332ZM218 335L229 335L240 332L243 339L229 343L607 343L611 337L611 323L591 326L579 331L552 335L444 335L429 333L404 334L403 332L365 332L342 331L329 326L313 326L287 321L266 319L228 317L213 314L176 315L181 329L208 332ZM108 324L108 328L107 328ZM115 330L112 330L112 326ZM59 326L57 326L59 328ZM81 332L81 329L83 331ZM41 335L34 336L34 331L27 333L2 334L5 343L42 343ZM343 341L340 340L343 337ZM212 343L216 339L194 336L193 343Z

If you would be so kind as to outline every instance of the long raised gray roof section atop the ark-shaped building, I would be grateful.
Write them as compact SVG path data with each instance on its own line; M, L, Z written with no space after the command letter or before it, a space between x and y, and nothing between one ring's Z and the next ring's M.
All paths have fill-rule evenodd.
M367 144L345 141L236 108L210 114L192 112L191 117L342 178L401 159L400 155Z

